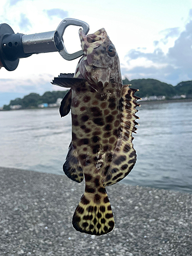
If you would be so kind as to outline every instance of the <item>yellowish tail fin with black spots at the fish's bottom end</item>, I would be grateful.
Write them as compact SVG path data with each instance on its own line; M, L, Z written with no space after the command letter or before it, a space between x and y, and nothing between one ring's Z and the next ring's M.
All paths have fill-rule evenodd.
M103 194L95 194L93 200L89 199L89 193L86 192L81 197L72 221L77 231L101 236L113 230L115 221L111 204L106 190Z

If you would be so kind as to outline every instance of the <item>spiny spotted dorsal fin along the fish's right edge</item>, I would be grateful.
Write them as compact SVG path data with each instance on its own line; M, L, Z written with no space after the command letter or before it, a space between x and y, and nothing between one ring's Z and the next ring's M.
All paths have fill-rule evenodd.
M121 88L121 125L119 130L119 137L114 151L113 159L110 168L103 180L104 186L110 186L122 180L128 175L136 162L136 151L134 150L132 140L132 133L137 130L135 121L139 117L135 115L138 110L136 106L140 106L136 102L139 97L134 93L139 91L137 89L129 88L129 84L125 84Z

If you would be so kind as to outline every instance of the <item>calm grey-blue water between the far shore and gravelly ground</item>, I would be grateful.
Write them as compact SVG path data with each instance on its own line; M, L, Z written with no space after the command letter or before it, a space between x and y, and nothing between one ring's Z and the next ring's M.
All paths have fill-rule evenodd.
M124 183L192 193L192 102L142 103L137 162ZM58 109L0 112L0 166L63 174L71 117Z

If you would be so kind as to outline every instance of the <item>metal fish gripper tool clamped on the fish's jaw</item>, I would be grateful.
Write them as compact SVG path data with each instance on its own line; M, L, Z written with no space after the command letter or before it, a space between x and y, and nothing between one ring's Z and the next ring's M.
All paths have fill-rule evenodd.
M85 34L89 32L87 23L74 18L63 19L55 31L30 35L15 34L8 24L0 24L0 63L2 62L2 66L8 71L13 71L17 68L20 58L32 54L59 52L67 60L80 57L83 55L82 50L70 54L63 42L62 36L70 25L82 27Z

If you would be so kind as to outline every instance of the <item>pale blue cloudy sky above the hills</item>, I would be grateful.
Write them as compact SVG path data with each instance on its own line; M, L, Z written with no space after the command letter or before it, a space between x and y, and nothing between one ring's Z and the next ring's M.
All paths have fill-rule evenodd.
M4 0L0 24L15 33L56 30L64 18L83 20L89 33L105 28L119 55L122 77L153 78L175 86L192 80L192 0ZM68 52L80 50L79 27L63 36ZM60 73L74 73L79 59L58 52L19 60L15 71L0 70L0 106L29 93L65 90L50 82Z

